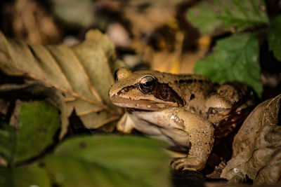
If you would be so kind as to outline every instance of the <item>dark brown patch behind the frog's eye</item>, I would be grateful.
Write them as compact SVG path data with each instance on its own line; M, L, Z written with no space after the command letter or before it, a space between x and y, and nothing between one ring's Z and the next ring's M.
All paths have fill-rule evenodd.
M180 106L185 105L185 100L183 100L168 83L157 83L156 88L151 94L165 102L176 102Z

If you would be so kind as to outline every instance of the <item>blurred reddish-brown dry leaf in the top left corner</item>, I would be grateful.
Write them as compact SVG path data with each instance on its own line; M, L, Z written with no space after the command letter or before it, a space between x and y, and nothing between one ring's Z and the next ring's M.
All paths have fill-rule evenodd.
M50 44L62 40L54 19L39 1L7 1L3 3L0 14L3 32L26 43Z

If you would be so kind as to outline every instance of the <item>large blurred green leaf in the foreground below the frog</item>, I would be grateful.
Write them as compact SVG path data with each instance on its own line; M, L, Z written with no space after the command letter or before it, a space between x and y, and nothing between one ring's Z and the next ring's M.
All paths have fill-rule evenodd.
M169 186L164 145L143 137L76 137L43 162L61 186Z

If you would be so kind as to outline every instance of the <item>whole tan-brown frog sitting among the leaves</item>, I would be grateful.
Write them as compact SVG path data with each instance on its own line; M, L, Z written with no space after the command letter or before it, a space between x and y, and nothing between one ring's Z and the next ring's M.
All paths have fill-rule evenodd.
M135 128L167 141L178 151L171 162L174 169L203 169L214 138L232 132L243 120L244 109L254 104L247 85L218 85L199 75L122 67L115 72L115 81L109 97L128 111L117 128L123 132Z

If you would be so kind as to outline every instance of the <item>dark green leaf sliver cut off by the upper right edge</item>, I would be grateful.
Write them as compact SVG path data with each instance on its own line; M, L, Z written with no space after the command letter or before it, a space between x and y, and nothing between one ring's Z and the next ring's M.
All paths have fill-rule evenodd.
M277 60L281 61L281 15L277 16L268 28L268 47Z

